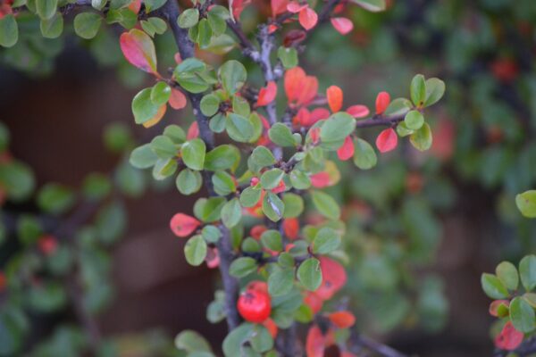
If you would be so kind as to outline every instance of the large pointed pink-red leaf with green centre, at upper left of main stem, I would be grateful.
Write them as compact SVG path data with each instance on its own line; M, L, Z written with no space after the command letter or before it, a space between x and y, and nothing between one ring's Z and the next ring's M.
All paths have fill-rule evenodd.
M130 29L121 35L120 44L127 61L142 71L158 76L155 45L149 35L140 29Z

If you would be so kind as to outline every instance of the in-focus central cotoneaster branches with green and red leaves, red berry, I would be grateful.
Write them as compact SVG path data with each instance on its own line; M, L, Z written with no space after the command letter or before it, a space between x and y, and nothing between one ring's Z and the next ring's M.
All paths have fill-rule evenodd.
M188 263L220 270L222 290L207 318L226 320L226 356L314 357L331 346L346 357L363 350L400 355L358 336L348 302L338 299L348 283L340 249L345 222L323 188L337 184L339 161L352 160L359 170L375 166L364 129L381 128L380 153L396 149L399 137L417 150L430 148L424 112L445 85L416 75L408 98L381 92L372 114L364 104L345 106L334 84L320 91L318 79L298 65L299 54L324 22L348 34L353 23L344 13L354 5L378 12L385 1L205 0L180 10L174 0L22 0L0 8L5 47L30 41L24 24L36 16L48 38L62 34L63 16L71 12L82 38L96 37L104 22L124 28L118 41L124 58L155 79L132 100L137 124L154 127L171 120L166 112L190 104L195 120L188 129L167 122L161 135L132 151L130 163L151 169L156 180L173 177L183 195L204 187L207 197L197 200L193 216L175 214L171 229L188 239ZM248 6L263 21L244 31L240 15ZM178 52L174 67L163 71L153 38L168 31ZM209 51L238 60L214 60ZM189 356L214 355L193 331L175 343Z

